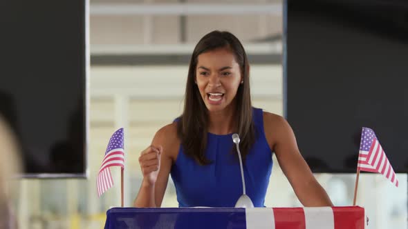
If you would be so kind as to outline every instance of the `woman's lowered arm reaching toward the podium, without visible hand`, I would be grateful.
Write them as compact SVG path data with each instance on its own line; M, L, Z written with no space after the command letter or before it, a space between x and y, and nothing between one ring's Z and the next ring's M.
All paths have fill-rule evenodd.
M264 113L264 122L266 138L299 201L306 207L333 206L300 154L289 123L270 113Z

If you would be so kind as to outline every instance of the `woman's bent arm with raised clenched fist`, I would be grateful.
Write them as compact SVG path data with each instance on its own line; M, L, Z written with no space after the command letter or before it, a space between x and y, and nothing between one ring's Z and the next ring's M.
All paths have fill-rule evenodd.
M172 123L158 130L151 146L141 152L139 162L143 181L133 206L137 208L158 208L161 206L169 180L171 164L178 152L175 128L175 123Z

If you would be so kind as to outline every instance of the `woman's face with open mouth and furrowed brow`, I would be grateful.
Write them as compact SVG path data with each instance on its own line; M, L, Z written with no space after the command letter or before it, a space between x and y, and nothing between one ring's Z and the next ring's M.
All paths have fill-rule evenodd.
M198 55L196 83L210 112L230 106L241 80L239 64L228 48L219 48Z

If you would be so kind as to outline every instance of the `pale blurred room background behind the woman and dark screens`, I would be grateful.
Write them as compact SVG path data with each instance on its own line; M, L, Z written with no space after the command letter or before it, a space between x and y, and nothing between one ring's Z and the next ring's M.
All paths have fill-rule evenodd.
M91 0L86 10L90 46L84 50L90 54L85 70L89 90L82 94L89 121L82 124L89 128L86 166L71 178L10 181L18 187L12 207L19 227L103 228L106 210L120 206L120 170L111 169L115 185L100 198L96 176L106 144L120 127L126 155L124 206L132 206L142 181L140 152L160 127L180 115L189 57L207 32L228 30L243 42L253 105L285 115L286 10L282 0ZM315 176L335 206L352 205L354 173ZM369 228L407 228L407 175L398 174L398 179L396 188L382 175L360 175L357 204L366 209ZM162 206L178 206L171 178ZM302 206L275 156L266 206Z

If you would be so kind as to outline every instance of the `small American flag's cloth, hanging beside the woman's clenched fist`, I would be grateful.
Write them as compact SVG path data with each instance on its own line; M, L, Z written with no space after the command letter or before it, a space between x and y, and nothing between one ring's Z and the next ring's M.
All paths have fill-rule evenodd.
M100 166L96 181L99 197L113 186L113 179L109 168L111 166L120 166L122 170L124 169L123 128L113 133L106 148L105 157Z

